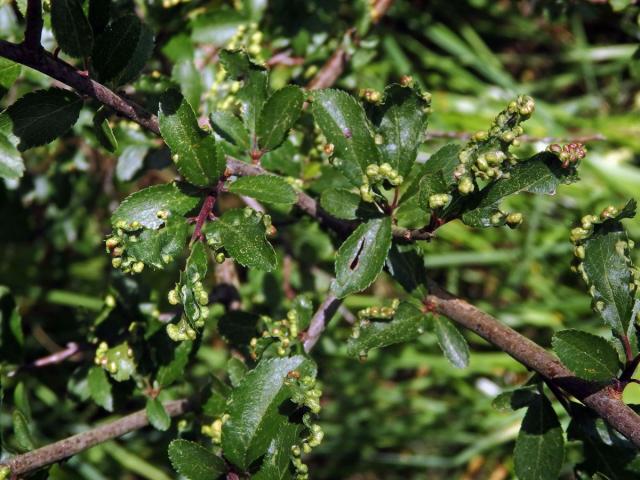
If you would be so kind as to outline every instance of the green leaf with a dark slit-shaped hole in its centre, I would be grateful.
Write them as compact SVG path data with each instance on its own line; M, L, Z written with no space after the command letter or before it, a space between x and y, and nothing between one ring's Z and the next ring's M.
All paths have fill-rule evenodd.
M378 277L391 247L391 218L363 223L340 246L336 279L331 290L338 298L364 290Z

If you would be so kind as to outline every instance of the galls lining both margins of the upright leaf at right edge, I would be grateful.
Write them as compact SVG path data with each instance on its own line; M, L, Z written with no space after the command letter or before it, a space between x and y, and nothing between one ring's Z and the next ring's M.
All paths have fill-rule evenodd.
M616 207L609 205L602 212L600 212L599 216L596 215L585 215L580 220L580 226L575 227L571 230L571 243L573 243L573 254L575 256L575 261L571 265L571 270L579 273L582 276L584 282L589 285L589 294L595 299L595 287L591 285L589 280L589 276L584 269L583 260L585 258L585 242L593 235L594 228L596 225L599 225L610 218L615 218L618 215L619 211ZM627 260L629 265L629 271L632 276L632 282L629 284L629 290L631 293L634 293L640 287L640 271L635 268L631 262L630 251L634 247L634 242L631 239L627 241L620 240L616 243L616 251L617 253L624 257ZM598 311L602 311L605 307L604 302L598 300L594 303L594 307Z

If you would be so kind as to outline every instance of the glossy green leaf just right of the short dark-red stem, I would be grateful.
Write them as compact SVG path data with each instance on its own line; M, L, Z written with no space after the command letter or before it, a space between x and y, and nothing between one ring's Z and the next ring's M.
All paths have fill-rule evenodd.
M203 228L207 241L223 244L225 250L241 265L271 271L278 259L266 239L261 215L247 209L227 210L215 222Z

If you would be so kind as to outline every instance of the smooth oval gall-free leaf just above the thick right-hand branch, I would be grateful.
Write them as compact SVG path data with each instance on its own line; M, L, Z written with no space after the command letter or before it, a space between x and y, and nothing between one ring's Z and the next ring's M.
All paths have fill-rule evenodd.
M580 330L563 330L553 336L553 351L562 363L585 380L616 378L618 353L604 338Z

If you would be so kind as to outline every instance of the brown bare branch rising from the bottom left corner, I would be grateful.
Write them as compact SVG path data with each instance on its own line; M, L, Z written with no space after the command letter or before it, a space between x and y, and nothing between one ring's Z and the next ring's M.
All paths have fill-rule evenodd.
M176 417L188 412L191 409L191 404L187 399L173 400L164 403L164 409L170 417ZM138 410L105 425L100 425L31 452L9 458L0 463L0 468L9 467L11 478L16 478L147 425L149 425L149 419L147 418L146 410Z

